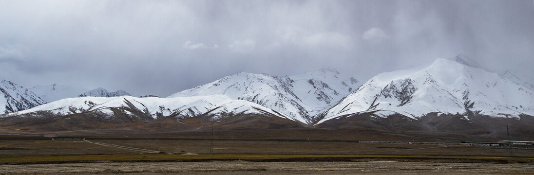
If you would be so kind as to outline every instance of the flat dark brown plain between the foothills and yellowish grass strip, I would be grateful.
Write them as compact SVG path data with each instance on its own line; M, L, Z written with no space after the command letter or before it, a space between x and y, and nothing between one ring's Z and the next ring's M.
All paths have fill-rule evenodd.
M20 134L25 134L21 136ZM417 137L405 134L316 128L276 130L215 130L211 132L140 133L139 131L85 130L48 133L0 134L0 156L147 154L88 141L52 141L45 136L85 138L91 142L140 148L167 154L328 154L328 155L470 155L534 157L532 146L474 147L443 145L360 144L356 141L460 142L457 138ZM211 140L213 138L213 141ZM493 141L465 138L463 141Z

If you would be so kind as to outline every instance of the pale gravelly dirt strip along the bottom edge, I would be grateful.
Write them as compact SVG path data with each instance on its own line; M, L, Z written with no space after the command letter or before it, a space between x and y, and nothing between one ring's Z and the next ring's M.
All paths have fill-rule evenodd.
M533 164L432 162L160 162L0 165L0 174L532 174Z

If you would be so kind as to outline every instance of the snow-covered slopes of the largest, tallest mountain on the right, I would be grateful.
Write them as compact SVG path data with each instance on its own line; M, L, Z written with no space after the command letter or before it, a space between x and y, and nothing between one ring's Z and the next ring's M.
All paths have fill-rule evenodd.
M401 114L414 120L430 113L534 116L534 91L460 62L437 59L423 69L376 75L328 109L317 123L370 112L379 117Z

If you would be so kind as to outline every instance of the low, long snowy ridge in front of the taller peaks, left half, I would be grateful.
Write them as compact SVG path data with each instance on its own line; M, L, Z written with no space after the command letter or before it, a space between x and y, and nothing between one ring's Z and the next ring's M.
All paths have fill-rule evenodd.
M177 118L187 118L201 115L207 112L233 112L233 113L269 113L283 118L289 117L274 112L272 109L244 100L231 100L225 96L195 96L177 98L146 97L138 98L131 96L121 97L80 97L62 99L31 109L22 110L6 116L19 116L24 114L37 115L38 112L48 112L53 115L69 115L77 113L94 112L113 117L114 110L119 108L122 113L135 115L141 113L151 116L153 119L176 115ZM215 110L214 110L215 109Z

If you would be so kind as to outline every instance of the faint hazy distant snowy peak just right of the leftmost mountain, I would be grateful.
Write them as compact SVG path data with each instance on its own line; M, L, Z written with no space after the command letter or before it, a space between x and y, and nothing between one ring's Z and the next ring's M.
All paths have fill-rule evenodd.
M29 90L37 94L37 96L41 97L45 102L78 97L80 93L88 91L88 89L83 87L60 84L36 85Z

